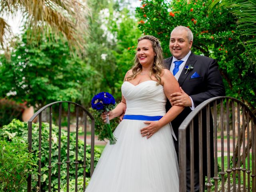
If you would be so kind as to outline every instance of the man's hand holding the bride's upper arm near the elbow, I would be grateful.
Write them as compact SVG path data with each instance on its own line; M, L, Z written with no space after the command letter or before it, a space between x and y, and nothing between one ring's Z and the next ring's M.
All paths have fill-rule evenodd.
M180 92L176 92L171 94L171 99L170 99L170 103L171 105L176 105L176 106L192 106L192 102L191 99L189 97L188 94L186 94L184 92L184 90L182 90L182 88L180 87Z

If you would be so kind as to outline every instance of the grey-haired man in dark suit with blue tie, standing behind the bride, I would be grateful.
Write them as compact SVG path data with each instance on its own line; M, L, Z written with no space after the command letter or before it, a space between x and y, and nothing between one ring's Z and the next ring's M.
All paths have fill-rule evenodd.
M174 77L180 84L181 93L173 93L170 102L172 105L185 106L185 109L172 121L174 133L178 138L178 128L188 114L194 110L203 101L216 97L224 96L225 89L222 77L218 70L216 60L205 56L195 55L191 52L193 43L193 34L191 30L184 26L178 26L171 32L170 52L172 57L165 60L166 68L170 69ZM169 110L170 102L166 104L166 110ZM205 113L204 113L205 114ZM195 118L196 119L196 118ZM198 119L198 118L197 118ZM212 122L212 121L211 121ZM203 146L206 146L206 116L203 116ZM212 133L211 123L211 133ZM194 123L194 191L199 191L199 165L198 165L198 122ZM211 136L211 145L213 137ZM178 155L178 141L174 141ZM213 146L211 146L212 148ZM187 139L187 192L190 192L190 144ZM204 150L205 149L205 150ZM203 186L206 176L206 147L203 149ZM212 154L213 155L213 154ZM212 156L213 157L213 156ZM211 158L211 163L213 160ZM212 164L213 165L213 164ZM211 168L211 170L213 170ZM213 172L212 172L213 173Z

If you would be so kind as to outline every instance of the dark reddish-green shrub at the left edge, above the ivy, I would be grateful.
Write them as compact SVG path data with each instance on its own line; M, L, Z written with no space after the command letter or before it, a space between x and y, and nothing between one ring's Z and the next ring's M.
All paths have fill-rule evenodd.
M23 105L11 100L0 99L0 128L9 124L14 118L21 119L23 110Z

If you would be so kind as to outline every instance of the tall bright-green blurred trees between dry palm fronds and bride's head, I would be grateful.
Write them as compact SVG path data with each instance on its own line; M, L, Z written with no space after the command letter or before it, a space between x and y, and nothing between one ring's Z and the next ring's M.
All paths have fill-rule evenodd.
M92 7L92 17L88 54L84 59L94 68L96 75L84 82L82 103L87 105L98 92L109 92L119 102L121 85L133 65L134 47L141 33L129 11L126 8L120 10L114 0L90 0L88 3ZM94 85L93 89L88 89L88 84Z

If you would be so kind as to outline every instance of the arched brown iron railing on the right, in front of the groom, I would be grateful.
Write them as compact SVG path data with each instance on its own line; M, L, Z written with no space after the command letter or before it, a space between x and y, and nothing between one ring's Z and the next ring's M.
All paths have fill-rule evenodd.
M194 140L195 136L198 140ZM190 159L189 178L186 158ZM195 167L199 168L200 192L256 191L256 117L252 111L228 96L201 103L179 127L179 167L180 192L186 192L187 179L191 192L194 191ZM214 173L212 177L211 172Z

